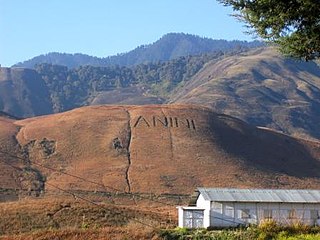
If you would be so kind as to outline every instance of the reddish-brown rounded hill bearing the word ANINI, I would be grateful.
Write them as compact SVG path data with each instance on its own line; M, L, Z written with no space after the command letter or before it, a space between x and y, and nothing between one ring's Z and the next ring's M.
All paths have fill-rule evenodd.
M3 189L37 192L53 184L190 194L197 186L320 188L319 142L187 105L91 106L19 121L2 118L0 143L1 151L24 159L0 154Z

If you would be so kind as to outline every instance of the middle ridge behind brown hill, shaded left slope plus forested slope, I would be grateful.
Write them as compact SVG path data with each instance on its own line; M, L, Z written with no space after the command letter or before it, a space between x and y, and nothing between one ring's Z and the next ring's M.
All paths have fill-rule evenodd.
M135 67L68 68L43 63L35 69L0 68L0 111L30 117L91 104L163 103L178 84L188 81L206 62L221 57L222 52L216 52ZM30 92L30 86L38 90ZM44 103L49 105L38 106Z

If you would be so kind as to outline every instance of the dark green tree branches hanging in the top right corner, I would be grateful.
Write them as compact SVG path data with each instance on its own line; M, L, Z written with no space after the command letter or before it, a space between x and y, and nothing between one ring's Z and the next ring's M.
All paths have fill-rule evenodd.
M320 58L320 0L218 0L285 55Z

